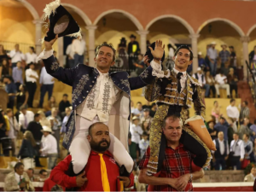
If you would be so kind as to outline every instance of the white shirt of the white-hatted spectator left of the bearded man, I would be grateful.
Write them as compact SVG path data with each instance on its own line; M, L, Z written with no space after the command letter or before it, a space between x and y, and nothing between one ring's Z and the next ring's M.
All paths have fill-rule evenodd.
M42 136L41 143L43 148L41 149L44 154L57 154L57 141L55 137L49 134L47 137Z

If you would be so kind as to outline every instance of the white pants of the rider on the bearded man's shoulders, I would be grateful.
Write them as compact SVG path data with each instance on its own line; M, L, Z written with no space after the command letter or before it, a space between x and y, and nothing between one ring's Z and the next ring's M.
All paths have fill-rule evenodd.
M92 121L84 119L79 115L76 116L76 130L69 148L70 154L72 155L73 172L75 174L81 172L87 164L90 155L90 143L87 140L88 129L90 125L96 122L99 122L97 116ZM108 125L108 122L103 123ZM118 162L119 166L124 165L127 172L131 172L134 162L130 154L126 151L125 146L111 133L109 137L111 142L108 151L113 154L113 159Z

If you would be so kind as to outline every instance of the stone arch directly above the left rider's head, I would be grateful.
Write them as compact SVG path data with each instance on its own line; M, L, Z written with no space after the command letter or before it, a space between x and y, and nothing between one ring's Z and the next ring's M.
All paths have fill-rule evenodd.
M127 18L129 18L134 23L135 26L137 26L137 29L139 31L143 31L143 25L140 23L140 21L137 20L137 18L134 15L131 15L130 13L128 13L124 10L121 10L121 9L111 9L111 10L103 12L101 15L97 16L96 20L94 20L94 22L93 22L93 25L96 26L98 21L101 20L103 16L112 14L112 13L124 14Z

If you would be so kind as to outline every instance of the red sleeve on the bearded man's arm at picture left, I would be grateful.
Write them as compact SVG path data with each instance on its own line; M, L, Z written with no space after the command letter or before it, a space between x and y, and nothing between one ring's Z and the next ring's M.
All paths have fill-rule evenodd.
M61 187L73 188L77 186L76 177L69 177L65 174L71 160L71 155L68 155L64 160L61 160L61 162L55 166L55 168L50 173L50 179L61 185Z

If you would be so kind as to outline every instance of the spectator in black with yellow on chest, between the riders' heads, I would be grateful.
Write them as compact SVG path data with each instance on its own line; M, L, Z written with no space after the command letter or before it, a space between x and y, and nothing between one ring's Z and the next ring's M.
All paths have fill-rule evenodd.
M139 44L136 41L136 36L131 34L130 43L128 44L128 55L129 55L129 68L134 69L133 62L137 60L137 55L140 52Z

